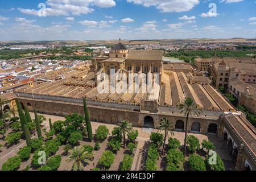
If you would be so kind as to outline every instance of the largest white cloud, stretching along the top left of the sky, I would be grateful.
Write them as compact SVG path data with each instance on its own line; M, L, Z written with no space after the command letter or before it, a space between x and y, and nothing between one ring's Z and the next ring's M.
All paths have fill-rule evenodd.
M92 13L93 6L97 7L113 7L115 6L114 0L47 0L46 16L59 16L64 15L81 15ZM21 13L38 15L38 11L34 9L18 8Z

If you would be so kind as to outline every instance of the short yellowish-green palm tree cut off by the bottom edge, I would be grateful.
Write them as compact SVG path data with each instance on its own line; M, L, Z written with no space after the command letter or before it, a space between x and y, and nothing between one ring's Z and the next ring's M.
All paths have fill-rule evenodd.
M68 156L68 162L73 161L73 171L84 171L84 165L82 163L89 163L92 154L85 151L82 147L75 147L71 150L71 155Z

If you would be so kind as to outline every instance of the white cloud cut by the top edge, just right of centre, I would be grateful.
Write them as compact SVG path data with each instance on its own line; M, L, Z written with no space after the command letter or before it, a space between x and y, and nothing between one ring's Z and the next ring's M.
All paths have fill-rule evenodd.
M182 12L193 9L199 0L127 0L145 7L156 6L162 12Z

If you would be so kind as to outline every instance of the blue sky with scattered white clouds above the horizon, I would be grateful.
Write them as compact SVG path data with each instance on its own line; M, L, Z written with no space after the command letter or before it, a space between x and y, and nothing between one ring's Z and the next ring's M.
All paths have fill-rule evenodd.
M255 0L0 1L0 41L255 38L255 10Z

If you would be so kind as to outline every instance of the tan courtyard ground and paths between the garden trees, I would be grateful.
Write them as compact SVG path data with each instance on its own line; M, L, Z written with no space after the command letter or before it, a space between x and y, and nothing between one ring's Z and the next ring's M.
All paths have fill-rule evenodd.
M31 118L34 119L34 113L30 113L30 115L31 115ZM44 115L44 117L46 117L46 121L44 121L42 123L42 130L46 130L46 131L49 131L49 122L48 122L49 118L51 118L52 123L54 123L55 121L59 121L59 120L61 120L61 121L65 120L64 117L59 117L59 116L55 116L55 115L47 115L47 114L43 114L43 115ZM104 151L109 150L108 142L113 138L113 136L110 133L113 131L114 127L116 126L116 125L111 125L111 124L107 124L107 123L99 123L99 122L91 122L91 123L92 123L93 134L96 133L96 129L99 126L104 125L108 128L109 135L105 140L100 142L99 150L92 151L92 156L93 156L92 159L90 160L90 162L88 162L84 166L84 170L86 170L86 171L92 170L94 168L104 169L104 168L102 168L102 166L100 166L98 164L98 161L100 160ZM138 137L136 139L137 147L134 150L131 170L135 170L135 171L145 170L147 151L148 151L148 147L150 147L150 135L152 132L158 132L158 130L140 128L140 127L133 127L133 129L138 130ZM11 131L7 131L7 133L10 133L10 132ZM42 132L42 133L43 133L43 137L46 137L45 133L44 132ZM180 141L180 144L183 145L184 144L184 135L185 134L183 132L174 131L174 136L172 138L178 139ZM228 154L226 145L222 142L222 140L220 138L218 138L216 135L210 135L210 134L203 135L203 134L189 133L189 135L194 135L195 137L197 137L199 139L200 143L204 139L210 140L211 142L213 142L214 146L216 147L215 151L217 152L217 154L220 155L222 161L225 164L225 169L226 170L234 170L233 162ZM31 137L37 138L36 133L32 134ZM83 140L79 141L78 146L89 145L89 146L94 147L95 143L96 143L95 137L92 142L89 142L88 138L83 138ZM5 144L5 142L3 140L0 140L0 144ZM2 167L2 164L5 163L7 159L16 155L16 153L20 150L20 148L22 148L24 146L26 146L26 140L20 139L18 143L14 144L10 147L7 147L7 146L2 147L1 148L2 152L0 152L0 167ZM60 164L60 167L58 168L58 170L72 170L72 162L67 162L68 155L65 154L64 147L65 147L64 145L61 145L55 154L55 155L61 155L61 164ZM119 150L114 152L114 162L111 165L111 167L109 167L109 170L113 170L113 171L120 170L123 158L128 152L129 151L127 151L123 147L119 148ZM187 157L186 157L186 160L187 160ZM30 170L36 170L36 168L28 167L28 166L30 166L31 161L32 161L32 155L30 155L29 159L27 159L21 163L18 170L24 170L26 168L30 168ZM159 159L157 160L156 165L157 165L158 170L160 170L160 171L165 170L166 156L159 155ZM187 164L185 163L184 169L188 169L186 167L186 165Z

